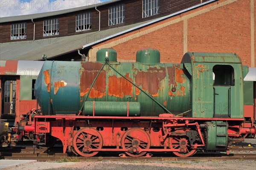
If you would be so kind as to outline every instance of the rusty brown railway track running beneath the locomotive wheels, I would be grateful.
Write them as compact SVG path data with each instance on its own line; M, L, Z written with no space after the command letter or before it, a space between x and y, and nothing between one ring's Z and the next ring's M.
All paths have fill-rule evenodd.
M119 157L119 153L102 153L98 155L99 157L70 157L67 153L62 153L62 146L55 146L51 149L35 148L29 145L23 146L13 146L13 147L2 147L0 148L0 159L36 159L38 161L58 161L61 159L70 159L77 161L209 161L209 160L256 160L256 147L247 146L232 146L229 148L230 155L226 153L197 153L192 157L180 158L180 157L170 157L170 153L154 153L152 157ZM253 151L245 153L232 153L233 151ZM113 157L109 157L109 155Z

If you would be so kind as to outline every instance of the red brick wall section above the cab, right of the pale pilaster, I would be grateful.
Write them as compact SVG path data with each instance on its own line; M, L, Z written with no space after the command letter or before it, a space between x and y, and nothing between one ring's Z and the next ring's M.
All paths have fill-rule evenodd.
M238 0L188 20L188 51L232 52L250 65L250 1Z

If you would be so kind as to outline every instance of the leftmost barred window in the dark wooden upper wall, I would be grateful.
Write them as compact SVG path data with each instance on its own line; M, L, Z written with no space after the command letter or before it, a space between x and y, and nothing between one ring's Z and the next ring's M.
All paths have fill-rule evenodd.
M11 40L25 39L26 38L26 23L12 24L11 25Z

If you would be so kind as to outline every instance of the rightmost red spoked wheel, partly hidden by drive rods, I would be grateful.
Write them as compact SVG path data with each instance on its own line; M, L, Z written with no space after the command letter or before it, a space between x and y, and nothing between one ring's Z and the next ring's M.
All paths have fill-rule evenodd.
M175 133L185 133L189 129L178 129L175 130ZM196 153L196 149L193 149L190 145L189 139L187 136L172 136L169 138L169 147L171 149L179 149L179 152L173 152L176 156L187 157L192 156Z

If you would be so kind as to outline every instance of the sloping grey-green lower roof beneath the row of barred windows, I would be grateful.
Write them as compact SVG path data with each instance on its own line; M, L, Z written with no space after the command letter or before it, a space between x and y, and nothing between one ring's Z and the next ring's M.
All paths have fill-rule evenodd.
M84 44L91 44L96 40L104 40L104 37L116 37L119 32L140 26L148 21L129 26L112 28L100 32L90 32L66 37L51 37L35 41L6 42L0 44L1 60L38 60L42 55L47 58L66 54L82 48Z

